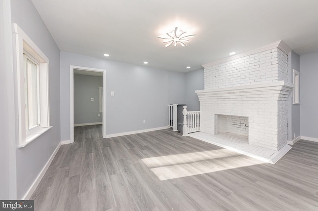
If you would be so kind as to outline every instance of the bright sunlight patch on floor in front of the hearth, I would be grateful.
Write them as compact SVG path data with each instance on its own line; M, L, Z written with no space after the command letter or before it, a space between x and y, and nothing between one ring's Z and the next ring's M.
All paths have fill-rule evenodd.
M159 180L241 168L266 163L246 158L226 149L144 158Z

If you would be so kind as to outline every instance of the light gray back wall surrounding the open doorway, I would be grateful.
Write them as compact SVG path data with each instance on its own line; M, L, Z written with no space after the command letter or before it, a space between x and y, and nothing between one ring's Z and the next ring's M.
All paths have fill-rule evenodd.
M167 126L167 105L185 102L184 73L68 52L60 61L61 140L70 140L70 65L106 70L106 134Z

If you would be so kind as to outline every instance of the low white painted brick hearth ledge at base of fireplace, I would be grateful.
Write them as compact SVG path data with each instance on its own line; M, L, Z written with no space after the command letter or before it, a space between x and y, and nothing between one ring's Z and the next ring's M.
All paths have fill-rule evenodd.
M210 135L203 132L190 133L189 136L271 164L275 164L292 148L291 146L286 145L279 151L275 151L248 143L238 143L237 139L229 136L219 134Z

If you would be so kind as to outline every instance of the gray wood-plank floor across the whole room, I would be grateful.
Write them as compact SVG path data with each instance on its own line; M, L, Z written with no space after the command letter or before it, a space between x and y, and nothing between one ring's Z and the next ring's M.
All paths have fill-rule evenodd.
M31 197L36 211L318 211L315 142L272 165L169 129L74 134Z

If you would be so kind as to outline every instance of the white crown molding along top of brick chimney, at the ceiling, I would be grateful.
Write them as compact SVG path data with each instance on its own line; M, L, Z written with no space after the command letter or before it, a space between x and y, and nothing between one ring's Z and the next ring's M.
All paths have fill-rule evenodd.
M214 62L203 64L202 67L209 68L209 67L212 67L212 66L214 66L216 64L219 64L219 63L232 61L232 60L244 57L244 56L248 56L248 55L251 55L251 54L263 52L263 51L270 50L270 49L273 49L273 48L279 48L280 50L282 50L286 54L289 54L289 52L292 51L291 48L288 45L286 45L286 43L284 43L282 40L279 40L279 41L276 41L274 43L271 43L271 44L266 45L266 46L261 47L261 48L245 51L245 52L242 52L242 53L239 53L239 54L235 54L233 56L230 56L230 57L227 57L227 58L224 58L224 59L220 59L220 60L217 60L217 61L214 61Z

